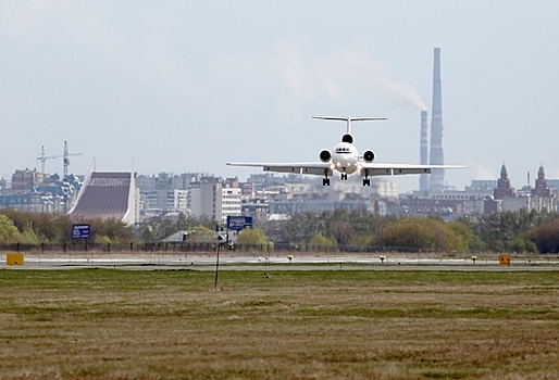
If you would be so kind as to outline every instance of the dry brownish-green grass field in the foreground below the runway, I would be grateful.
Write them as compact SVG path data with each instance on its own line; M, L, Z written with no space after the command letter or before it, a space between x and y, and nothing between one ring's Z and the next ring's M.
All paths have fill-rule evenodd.
M559 273L0 270L1 379L557 379Z

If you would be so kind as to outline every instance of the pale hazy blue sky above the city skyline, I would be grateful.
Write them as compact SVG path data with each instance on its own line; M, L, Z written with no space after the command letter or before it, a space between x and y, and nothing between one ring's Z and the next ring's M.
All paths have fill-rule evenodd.
M377 162L419 163L442 50L446 182L559 178L559 2L0 0L0 177L204 172L314 161L353 125ZM62 159L46 161L61 173ZM419 176L396 180L401 192Z

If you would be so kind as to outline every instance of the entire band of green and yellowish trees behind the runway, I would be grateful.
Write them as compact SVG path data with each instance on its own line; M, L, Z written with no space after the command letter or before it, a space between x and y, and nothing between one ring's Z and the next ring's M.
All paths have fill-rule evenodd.
M190 242L212 242L218 225L206 216L181 214L177 219L154 217L138 226L114 219L79 219L69 215L0 211L0 244L64 243L72 240L72 225L90 225L90 241L127 244L159 243L188 231ZM300 213L281 223L265 223L241 231L238 244L307 244L350 250L402 250L434 252L559 252L559 214L556 212L502 212L444 221L439 217L396 217L336 210Z

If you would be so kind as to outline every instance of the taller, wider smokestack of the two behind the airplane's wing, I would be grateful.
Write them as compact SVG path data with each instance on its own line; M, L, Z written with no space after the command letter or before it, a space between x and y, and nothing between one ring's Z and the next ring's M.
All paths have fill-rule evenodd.
M440 81L440 48L435 48L435 61L433 64L433 110L431 111L431 165L444 165L445 153L443 151L443 86ZM433 170L431 174L430 189L443 189L445 187L445 170Z

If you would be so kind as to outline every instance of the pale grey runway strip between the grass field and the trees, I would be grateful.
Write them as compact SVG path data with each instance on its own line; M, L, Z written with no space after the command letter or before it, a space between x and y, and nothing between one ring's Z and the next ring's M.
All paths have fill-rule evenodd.
M3 257L2 257L3 256ZM111 268L128 270L215 270L216 255L184 254L107 254L67 253L60 255L25 254L24 265L9 266L2 255L0 269L77 269ZM384 255L294 255L285 256L236 256L222 254L220 270L465 270L465 271L518 271L559 270L556 255L532 257L511 256L510 265L500 265L498 256L472 256L461 258L421 257L413 254Z

